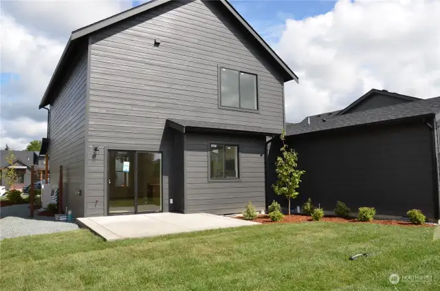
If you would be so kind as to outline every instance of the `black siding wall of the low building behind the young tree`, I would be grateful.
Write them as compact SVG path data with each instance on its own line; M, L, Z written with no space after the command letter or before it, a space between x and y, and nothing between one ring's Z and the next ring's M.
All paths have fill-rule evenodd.
M434 217L432 143L432 131L421 119L289 137L300 169L307 171L293 206L310 197L326 211L339 200L353 212L373 206L377 214L405 215L419 208ZM276 155L271 153L271 162ZM273 184L276 177L270 179ZM285 205L271 191L269 201L274 198Z

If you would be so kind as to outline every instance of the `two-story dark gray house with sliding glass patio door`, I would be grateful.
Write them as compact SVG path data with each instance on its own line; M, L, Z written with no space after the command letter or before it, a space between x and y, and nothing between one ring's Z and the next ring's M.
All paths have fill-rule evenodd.
M228 1L155 0L72 32L50 105L74 216L265 209L265 146L298 77Z

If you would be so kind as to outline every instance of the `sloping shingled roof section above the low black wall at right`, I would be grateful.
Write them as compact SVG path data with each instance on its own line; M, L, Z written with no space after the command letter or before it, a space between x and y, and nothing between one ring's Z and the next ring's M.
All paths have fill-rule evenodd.
M418 101L389 105L375 109L353 112L334 116L321 122L307 125L307 123L286 123L287 136L296 136L303 133L367 125L377 122L388 122L416 116L430 116L440 112L440 97L420 99Z

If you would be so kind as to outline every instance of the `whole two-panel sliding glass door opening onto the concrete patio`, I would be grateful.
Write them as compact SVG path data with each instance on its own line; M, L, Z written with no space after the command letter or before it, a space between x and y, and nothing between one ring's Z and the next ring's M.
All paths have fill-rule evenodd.
M162 211L162 153L109 150L108 213Z

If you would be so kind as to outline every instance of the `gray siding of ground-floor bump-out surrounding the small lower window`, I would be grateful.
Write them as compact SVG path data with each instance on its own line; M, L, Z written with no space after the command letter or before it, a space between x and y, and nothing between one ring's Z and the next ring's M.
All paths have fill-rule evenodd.
M236 182L208 181L210 142L239 145ZM241 213L247 202L257 211L265 209L265 137L223 136L201 133L186 135L186 213Z

